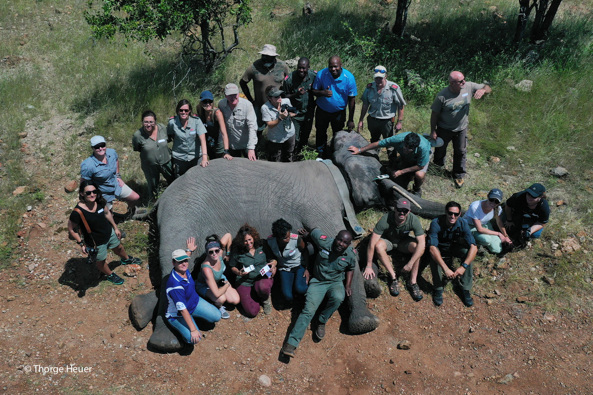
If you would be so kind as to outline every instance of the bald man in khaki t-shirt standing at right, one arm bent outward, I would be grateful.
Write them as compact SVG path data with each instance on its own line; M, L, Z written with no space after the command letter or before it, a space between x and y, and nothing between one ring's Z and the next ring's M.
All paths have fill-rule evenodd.
M444 144L435 148L433 162L435 165L445 166L447 145L453 142L453 171L458 188L463 187L466 176L467 154L467 125L470 113L471 97L481 98L484 94L492 92L490 86L466 81L461 72L454 71L449 74L449 86L443 88L436 95L431 105L431 139L441 137Z

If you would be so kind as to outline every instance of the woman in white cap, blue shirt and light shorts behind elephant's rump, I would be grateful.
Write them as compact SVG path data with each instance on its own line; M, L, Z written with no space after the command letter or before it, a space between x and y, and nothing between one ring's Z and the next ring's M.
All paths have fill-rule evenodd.
M117 199L127 203L127 216L146 213L146 210L136 209L140 197L123 182L119 172L119 157L115 150L107 148L103 136L93 136L91 147L93 155L83 160L80 165L80 181L94 181L103 192L109 210L113 207L113 201Z

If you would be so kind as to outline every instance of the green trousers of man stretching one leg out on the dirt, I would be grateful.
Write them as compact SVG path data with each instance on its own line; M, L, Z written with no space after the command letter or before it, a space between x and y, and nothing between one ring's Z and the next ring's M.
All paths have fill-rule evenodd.
M326 323L330 319L331 314L340 307L342 301L346 297L346 290L343 281L318 281L315 278L309 280L309 288L305 293L305 307L299 314L291 334L288 336L288 344L298 347L305 336L305 330L309 326L315 311L327 295L326 309L319 314L319 322Z

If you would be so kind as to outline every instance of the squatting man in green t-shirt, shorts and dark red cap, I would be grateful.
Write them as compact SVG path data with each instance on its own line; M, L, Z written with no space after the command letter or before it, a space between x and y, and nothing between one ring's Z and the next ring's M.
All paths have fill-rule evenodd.
M419 301L422 300L422 291L418 287L416 278L420 257L424 253L426 236L420 220L410 213L410 208L412 208L410 201L401 198L396 202L396 210L385 214L377 222L366 249L364 277L369 279L375 276L375 272L372 270L372 258L376 252L379 262L390 274L389 292L391 296L398 296L400 294L400 285L387 253L391 252L393 255L394 252L398 251L406 255L412 255L407 264L401 268L401 272L409 273L406 288L410 291L412 298ZM415 237L410 236L410 232L414 232Z

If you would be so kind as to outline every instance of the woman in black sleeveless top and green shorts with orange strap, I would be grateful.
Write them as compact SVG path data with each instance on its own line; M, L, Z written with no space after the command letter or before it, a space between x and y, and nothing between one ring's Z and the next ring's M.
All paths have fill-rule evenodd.
M111 211L106 208L107 202L97 184L93 181L83 180L78 188L78 199L79 202L68 219L68 232L74 237L76 243L81 246L84 255L88 254L87 248L95 250L97 255L89 255L88 263L95 261L97 269L107 276L107 280L113 282L113 284L123 284L123 278L111 271L107 265L107 249L110 248L111 251L120 256L122 265L140 265L142 261L132 255L127 255L122 243L120 243L122 232L117 229ZM84 220L78 210L81 211ZM79 226L84 241L79 233L75 232L76 226ZM87 226L90 232L87 231Z

